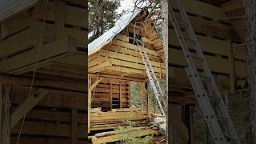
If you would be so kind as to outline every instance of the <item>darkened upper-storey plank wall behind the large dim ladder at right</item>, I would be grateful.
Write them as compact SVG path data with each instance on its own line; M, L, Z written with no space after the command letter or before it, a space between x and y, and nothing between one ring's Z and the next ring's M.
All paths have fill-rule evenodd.
M224 2L222 7L225 7L224 9L226 10L223 10L219 6L213 6L198 0L193 2L186 0L184 2L190 22L198 37L198 42L200 42L202 51L205 54L206 61L210 66L210 70L214 73L214 77L217 79L219 89L222 90L234 89L234 85L236 85L238 89L246 86L246 51L244 46L234 46L232 48L232 45L238 44L240 39L239 35L241 37L242 34L237 30L237 26L231 26L230 22L226 20L216 20L226 18L228 14L224 12L228 12L230 8L227 8L227 6L232 2L233 1ZM198 7L202 7L202 10L198 10ZM175 14L178 16L177 12L175 12ZM169 76L179 78L178 81L183 81L183 79L186 78L186 74L182 69L187 66L186 59L182 54L171 22L168 23ZM231 24L233 23L231 22ZM242 27L241 24L241 22L236 23L236 25ZM193 42L188 44L190 48L192 45ZM190 51L194 54L192 49L190 49ZM198 69L200 69L197 62L196 64ZM234 74L237 79L230 76Z

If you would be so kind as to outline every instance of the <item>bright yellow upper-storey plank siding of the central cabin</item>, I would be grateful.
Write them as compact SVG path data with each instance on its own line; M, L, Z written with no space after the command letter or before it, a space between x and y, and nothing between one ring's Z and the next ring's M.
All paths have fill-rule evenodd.
M124 79L146 78L145 66L142 62L138 47L131 43L132 38L126 35L118 34L108 45L103 46L102 50L91 54L89 58L89 72L104 74L122 75ZM143 37L146 43L145 50L153 66L153 70L159 78L166 74L165 64L162 61L162 55L159 54L155 46L162 46L159 39L150 41Z

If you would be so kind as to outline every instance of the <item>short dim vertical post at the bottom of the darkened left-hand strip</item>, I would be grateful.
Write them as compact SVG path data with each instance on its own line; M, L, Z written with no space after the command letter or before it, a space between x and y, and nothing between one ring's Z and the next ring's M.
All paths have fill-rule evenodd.
M72 144L77 144L78 141L78 110L71 111L71 141Z

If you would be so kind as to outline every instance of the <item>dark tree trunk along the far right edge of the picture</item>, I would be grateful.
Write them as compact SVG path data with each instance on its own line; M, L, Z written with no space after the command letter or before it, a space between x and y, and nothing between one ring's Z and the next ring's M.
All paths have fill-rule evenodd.
M256 144L256 2L244 0L246 14L246 48L250 88L251 142Z

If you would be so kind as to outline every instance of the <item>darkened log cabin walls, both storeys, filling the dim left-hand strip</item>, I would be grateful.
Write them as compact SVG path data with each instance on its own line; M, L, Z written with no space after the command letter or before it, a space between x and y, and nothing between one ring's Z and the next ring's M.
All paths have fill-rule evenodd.
M18 108L27 102L35 59L29 107L35 106L19 143L86 143L86 10L83 0L39 0L1 22L0 79L11 85L10 143L21 128L25 112ZM34 95L42 99L37 103Z

